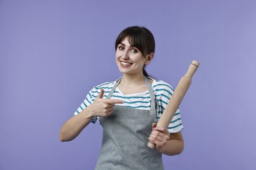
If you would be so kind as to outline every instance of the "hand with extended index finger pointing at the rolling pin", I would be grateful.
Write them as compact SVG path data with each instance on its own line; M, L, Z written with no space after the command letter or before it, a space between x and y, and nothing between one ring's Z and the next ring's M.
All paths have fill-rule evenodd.
M91 114L92 117L95 116L110 116L113 111L113 107L117 103L124 103L121 100L117 99L102 99L104 94L104 90L100 89L100 93L95 101L87 107L88 113Z

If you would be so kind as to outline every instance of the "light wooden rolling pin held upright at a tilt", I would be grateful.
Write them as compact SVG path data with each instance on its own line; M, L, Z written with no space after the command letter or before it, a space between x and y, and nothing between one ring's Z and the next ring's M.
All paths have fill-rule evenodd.
M181 101L192 82L192 76L194 75L198 67L198 61L193 60L190 66L188 67L188 71L184 76L182 76L181 80L179 81L179 84L177 85L175 92L171 96L168 105L165 107L165 110L163 111L163 114L161 115L161 118L158 121L158 125L156 127L167 128L169 126L175 112L179 108L179 105L181 104ZM153 143L152 141L148 141L147 145L150 148L155 148L156 146L156 144Z

